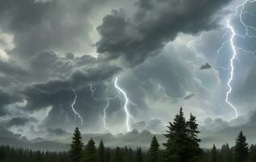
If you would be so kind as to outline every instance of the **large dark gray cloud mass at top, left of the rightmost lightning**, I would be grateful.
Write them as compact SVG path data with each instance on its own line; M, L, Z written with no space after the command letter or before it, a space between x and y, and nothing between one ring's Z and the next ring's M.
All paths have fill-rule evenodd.
M179 32L195 34L215 28L220 19L215 12L228 2L139 0L132 17L122 10L105 16L97 28L101 36L97 52L108 58L123 56L130 65L137 65L159 52Z

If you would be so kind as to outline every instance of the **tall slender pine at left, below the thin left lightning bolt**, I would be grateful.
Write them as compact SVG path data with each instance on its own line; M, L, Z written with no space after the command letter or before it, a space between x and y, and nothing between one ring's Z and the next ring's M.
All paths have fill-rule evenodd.
M72 143L70 145L70 161L79 162L83 152L83 142L79 128L75 128L74 136L72 137Z

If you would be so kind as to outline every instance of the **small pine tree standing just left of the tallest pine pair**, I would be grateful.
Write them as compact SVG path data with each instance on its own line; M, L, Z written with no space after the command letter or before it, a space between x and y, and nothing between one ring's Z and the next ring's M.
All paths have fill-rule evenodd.
M148 151L148 162L158 162L159 161L159 143L156 139L156 136L154 135L151 146Z

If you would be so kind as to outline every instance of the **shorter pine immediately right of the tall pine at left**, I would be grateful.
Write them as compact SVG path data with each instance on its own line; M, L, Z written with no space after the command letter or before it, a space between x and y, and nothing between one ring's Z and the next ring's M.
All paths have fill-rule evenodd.
M96 162L97 161L97 151L96 146L91 138L87 145L84 147L84 155L82 162Z

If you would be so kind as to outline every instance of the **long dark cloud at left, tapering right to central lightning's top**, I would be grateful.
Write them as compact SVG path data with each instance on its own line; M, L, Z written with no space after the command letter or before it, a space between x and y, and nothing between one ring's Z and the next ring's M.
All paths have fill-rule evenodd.
M74 98L72 88L81 91L90 83L99 83L111 79L120 70L114 66L85 67L75 70L67 79L53 79L46 83L34 83L24 89L23 94L28 100L28 109L41 109L59 103L59 100Z

